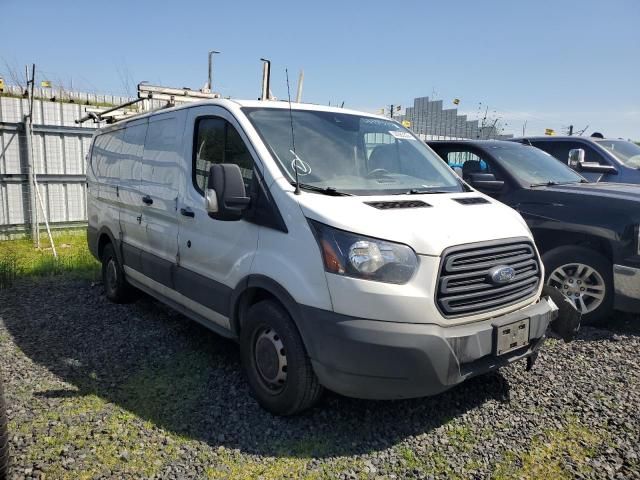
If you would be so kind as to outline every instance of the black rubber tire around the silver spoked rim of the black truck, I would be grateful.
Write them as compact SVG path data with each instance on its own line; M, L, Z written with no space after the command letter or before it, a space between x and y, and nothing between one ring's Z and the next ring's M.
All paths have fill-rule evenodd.
M565 288L565 286L560 288L560 282L557 281L557 276L550 282L550 277L553 272L561 267L566 267L569 269L569 271L571 271L572 264L582 264L592 268L595 272L597 272L597 275L599 275L600 279L603 281L604 297L602 298L600 304L592 311L582 314L581 323L582 325L597 325L603 323L611 316L613 312L614 298L613 267L611 265L611 262L601 253L585 247L567 245L549 250L542 256L542 261L544 262L545 266L545 283L555 286L565 295L567 295L568 290ZM591 279L592 283L594 284L599 281L597 276L592 276ZM568 286L569 285L567 285L567 287ZM589 288L589 286L587 286L587 288ZM570 295L567 297L570 299L572 298ZM575 299L575 297L573 298L574 304L576 304L577 306L579 302L577 299ZM585 302L592 300L592 298L587 297L585 299Z

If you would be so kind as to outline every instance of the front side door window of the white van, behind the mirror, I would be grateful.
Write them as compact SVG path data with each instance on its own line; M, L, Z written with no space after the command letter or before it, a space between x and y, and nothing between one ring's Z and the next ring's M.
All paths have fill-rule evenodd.
M240 167L245 188L253 178L253 158L238 131L222 118L206 117L196 122L193 152L193 186L200 193L207 188L209 168L214 163L235 163Z

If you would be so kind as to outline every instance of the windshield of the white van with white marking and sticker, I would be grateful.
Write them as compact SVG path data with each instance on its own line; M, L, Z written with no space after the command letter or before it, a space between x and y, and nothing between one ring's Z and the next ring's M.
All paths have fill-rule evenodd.
M283 108L243 110L292 182L295 168L300 183L352 195L463 191L453 171L396 122L314 110L292 110L291 116Z

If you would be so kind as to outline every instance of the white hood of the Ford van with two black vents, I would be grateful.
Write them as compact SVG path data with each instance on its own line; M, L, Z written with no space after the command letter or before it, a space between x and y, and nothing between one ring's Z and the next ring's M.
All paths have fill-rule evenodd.
M341 230L404 243L421 255L439 256L445 248L466 243L531 239L518 212L478 192L353 197L304 192L295 198L307 218Z

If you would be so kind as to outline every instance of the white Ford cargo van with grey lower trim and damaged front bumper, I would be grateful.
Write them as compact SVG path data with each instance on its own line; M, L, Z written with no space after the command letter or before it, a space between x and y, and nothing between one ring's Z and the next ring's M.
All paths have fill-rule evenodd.
M107 297L135 287L237 339L277 414L323 387L442 392L535 358L558 315L520 215L384 117L188 104L102 129L87 172Z

